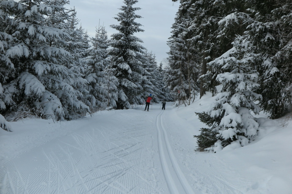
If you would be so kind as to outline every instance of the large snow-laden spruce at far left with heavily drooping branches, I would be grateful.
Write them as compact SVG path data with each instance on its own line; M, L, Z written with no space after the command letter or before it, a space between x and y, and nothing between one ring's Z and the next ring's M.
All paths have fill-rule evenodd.
M75 42L76 30L64 28L70 11L64 8L67 1L22 0L1 1L0 10L9 24L3 33L11 38L4 48L1 68L13 70L2 83L6 108L11 111L40 109L44 118L54 115L57 120L72 118L88 110L79 100L75 83L84 83L69 65L74 63L70 51ZM2 80L1 80L2 81Z

